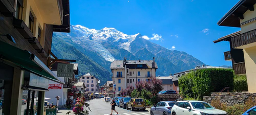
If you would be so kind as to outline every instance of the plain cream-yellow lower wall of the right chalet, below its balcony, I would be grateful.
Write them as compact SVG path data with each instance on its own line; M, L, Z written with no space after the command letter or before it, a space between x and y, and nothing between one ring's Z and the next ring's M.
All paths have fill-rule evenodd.
M244 49L244 60L249 93L256 93L256 46Z

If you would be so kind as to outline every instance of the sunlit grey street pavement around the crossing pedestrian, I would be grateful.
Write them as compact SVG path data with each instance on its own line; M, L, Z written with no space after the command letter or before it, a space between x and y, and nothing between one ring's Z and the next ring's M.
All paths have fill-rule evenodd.
M89 111L90 115L110 115L111 113L110 102L106 103L104 102L104 99L94 99L87 103L90 104L90 109L92 110L92 111ZM150 109L147 109L146 111L142 111L142 110L131 111L131 110L119 108L117 106L115 109L119 115L150 115L150 111L149 111ZM59 110L59 112L61 113L57 113L57 115L62 115L62 114L64 115L68 111L72 111L72 110ZM113 114L116 114L116 112L113 111Z

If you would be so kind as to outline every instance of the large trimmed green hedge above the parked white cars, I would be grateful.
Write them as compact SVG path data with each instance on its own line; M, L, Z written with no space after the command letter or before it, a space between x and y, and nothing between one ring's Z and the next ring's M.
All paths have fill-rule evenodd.
M203 99L211 92L219 92L224 87L233 90L232 69L206 68L190 72L179 78L180 94L183 98Z

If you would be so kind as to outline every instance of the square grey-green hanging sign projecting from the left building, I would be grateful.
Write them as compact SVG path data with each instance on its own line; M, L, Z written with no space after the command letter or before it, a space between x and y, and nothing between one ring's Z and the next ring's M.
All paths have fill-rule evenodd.
M73 77L74 64L58 63L57 76L58 77Z

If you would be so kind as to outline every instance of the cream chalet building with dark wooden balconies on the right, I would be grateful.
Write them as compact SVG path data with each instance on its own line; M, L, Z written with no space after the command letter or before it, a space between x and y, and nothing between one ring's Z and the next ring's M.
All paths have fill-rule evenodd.
M231 60L236 74L246 74L248 91L256 93L256 1L241 0L218 22L219 26L237 27L241 31L214 41L229 41L230 51L224 52Z

